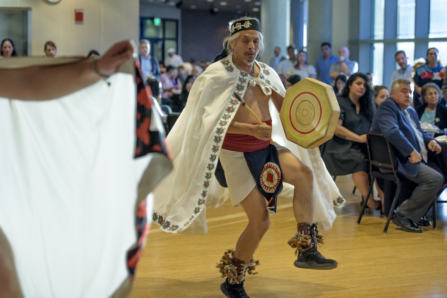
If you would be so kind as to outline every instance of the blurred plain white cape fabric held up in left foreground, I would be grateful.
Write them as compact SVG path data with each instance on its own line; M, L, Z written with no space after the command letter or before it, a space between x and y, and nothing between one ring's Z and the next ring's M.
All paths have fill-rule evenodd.
M108 81L51 101L0 98L0 227L25 297L106 298L129 280L139 181L170 162L134 159L135 79Z

